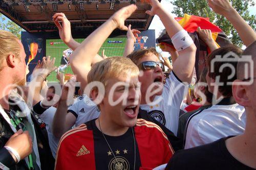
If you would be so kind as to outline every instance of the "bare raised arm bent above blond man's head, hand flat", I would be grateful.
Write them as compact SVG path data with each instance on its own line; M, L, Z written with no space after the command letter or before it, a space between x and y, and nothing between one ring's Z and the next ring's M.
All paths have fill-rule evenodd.
M77 75L77 80L81 82L82 89L87 84L88 72L100 46L116 28L127 30L127 27L124 26L124 20L130 17L136 8L135 5L129 5L117 11L103 25L90 34L72 53L70 64Z

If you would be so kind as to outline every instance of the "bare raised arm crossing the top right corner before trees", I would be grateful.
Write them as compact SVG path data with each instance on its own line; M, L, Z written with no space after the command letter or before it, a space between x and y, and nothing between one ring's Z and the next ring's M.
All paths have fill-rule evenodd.
M237 30L240 38L246 46L249 46L256 40L255 31L239 15L228 0L207 0L208 5L214 12L226 17Z

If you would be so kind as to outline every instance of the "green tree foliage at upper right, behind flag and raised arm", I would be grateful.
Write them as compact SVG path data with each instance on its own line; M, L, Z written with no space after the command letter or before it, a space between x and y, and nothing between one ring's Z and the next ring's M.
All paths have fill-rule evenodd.
M219 26L226 33L233 44L236 44L239 47L243 46L243 42L231 23L225 17L212 11L208 6L207 1L171 0L171 3L175 6L173 13L177 16L182 17L184 14L189 14L208 17L212 23ZM231 3L244 20L246 20L247 23L249 23L249 25L255 30L256 15L250 15L248 10L250 6L255 5L254 0L231 0Z

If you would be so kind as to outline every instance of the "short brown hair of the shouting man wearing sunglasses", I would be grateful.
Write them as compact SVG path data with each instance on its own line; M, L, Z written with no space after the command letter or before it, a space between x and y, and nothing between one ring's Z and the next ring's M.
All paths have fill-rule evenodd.
M160 58L160 54L156 51L156 48L151 47L147 49L142 49L138 51L134 51L130 55L127 56L127 58L130 58L136 65L138 65L138 61L145 57L147 54L153 53L155 54L158 58Z

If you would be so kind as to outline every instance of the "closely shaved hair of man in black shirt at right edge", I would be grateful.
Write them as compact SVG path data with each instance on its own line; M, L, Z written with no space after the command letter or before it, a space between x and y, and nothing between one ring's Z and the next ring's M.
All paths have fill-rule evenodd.
M243 56L251 56L252 61L256 61L256 41L254 41L252 44L250 44L245 51L242 54ZM256 66L253 64L253 71L254 71L254 77L256 74ZM250 68L248 68L250 70ZM248 71L249 71L248 70ZM245 78L245 62L238 61L237 66L237 77L239 80L244 80Z

